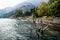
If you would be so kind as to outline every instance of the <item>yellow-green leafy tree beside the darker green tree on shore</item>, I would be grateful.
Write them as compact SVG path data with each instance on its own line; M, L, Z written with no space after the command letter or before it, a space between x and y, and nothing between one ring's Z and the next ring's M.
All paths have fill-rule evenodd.
M47 16L48 14L48 4L46 2L42 2L41 5L37 8L38 16Z

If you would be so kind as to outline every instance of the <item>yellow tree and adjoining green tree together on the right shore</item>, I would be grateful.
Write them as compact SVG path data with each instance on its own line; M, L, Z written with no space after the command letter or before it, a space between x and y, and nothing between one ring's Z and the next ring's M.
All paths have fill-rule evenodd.
M54 16L60 17L60 0L49 0L50 4L42 2L35 11L38 17L42 16ZM33 14L35 15L35 14Z

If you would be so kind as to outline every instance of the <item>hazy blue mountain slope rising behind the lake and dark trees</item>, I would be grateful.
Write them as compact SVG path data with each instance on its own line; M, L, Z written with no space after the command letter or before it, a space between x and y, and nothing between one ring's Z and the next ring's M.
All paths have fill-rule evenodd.
M13 8L6 8L0 11L0 18L8 18L15 14L16 10L30 11L35 6L32 3L25 2L14 6Z

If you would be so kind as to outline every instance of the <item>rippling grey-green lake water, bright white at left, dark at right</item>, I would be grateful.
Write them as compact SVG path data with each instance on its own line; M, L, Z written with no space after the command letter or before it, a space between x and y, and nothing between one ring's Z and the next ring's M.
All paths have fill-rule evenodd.
M60 40L57 31L44 31L44 35L36 35L34 24L27 20L0 18L0 40ZM54 36L51 36L54 35Z

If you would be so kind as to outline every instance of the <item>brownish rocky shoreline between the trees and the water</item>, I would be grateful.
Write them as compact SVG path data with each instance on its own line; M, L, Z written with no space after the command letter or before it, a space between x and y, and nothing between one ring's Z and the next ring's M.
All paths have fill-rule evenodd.
M33 19L31 17L18 17L17 19L33 22ZM35 18L35 23L38 27L41 24L41 19L43 21L43 25L48 25L49 28L60 31L60 18L54 18L53 20L49 19L49 18L47 18L47 19Z

